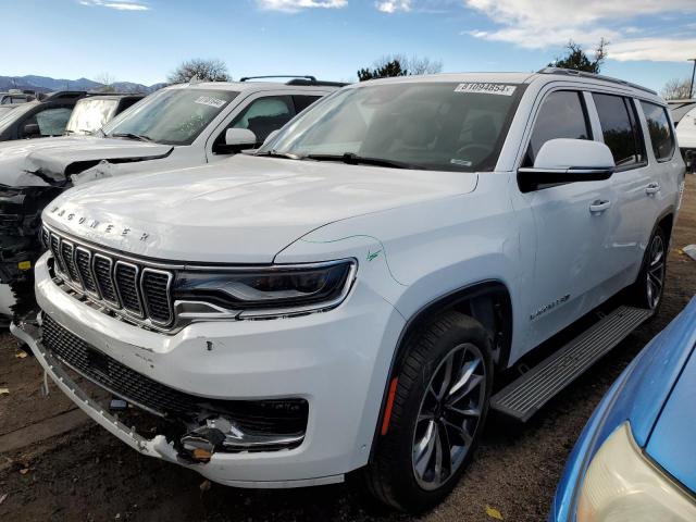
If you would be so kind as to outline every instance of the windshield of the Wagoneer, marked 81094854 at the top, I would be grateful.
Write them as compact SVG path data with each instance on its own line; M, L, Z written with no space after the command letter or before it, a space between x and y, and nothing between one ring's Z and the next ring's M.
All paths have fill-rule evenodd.
M437 171L492 171L519 85L395 83L348 88L310 108L259 153Z

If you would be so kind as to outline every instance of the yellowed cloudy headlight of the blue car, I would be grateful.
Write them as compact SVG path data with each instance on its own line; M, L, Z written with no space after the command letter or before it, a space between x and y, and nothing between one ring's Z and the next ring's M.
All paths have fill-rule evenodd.
M599 448L585 474L577 522L689 522L696 502L646 459L621 424Z

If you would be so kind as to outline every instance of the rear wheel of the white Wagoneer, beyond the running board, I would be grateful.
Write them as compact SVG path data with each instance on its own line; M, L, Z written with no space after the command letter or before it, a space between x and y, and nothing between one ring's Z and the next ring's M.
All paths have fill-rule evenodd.
M669 241L662 227L658 226L645 250L643 265L635 283L630 288L630 303L657 313L662 303Z

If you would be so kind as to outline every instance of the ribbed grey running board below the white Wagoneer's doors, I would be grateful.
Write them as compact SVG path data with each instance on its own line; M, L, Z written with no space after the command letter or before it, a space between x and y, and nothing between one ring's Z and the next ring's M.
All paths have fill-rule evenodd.
M617 308L498 391L490 399L490 408L517 421L529 421L650 315L651 310Z

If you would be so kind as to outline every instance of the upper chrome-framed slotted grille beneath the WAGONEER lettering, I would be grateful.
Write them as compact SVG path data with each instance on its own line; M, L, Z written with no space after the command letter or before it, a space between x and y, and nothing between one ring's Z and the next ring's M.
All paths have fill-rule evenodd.
M55 259L55 275L89 300L134 321L149 320L147 325L165 328L174 321L171 286L172 271L154 270L120 256L76 245L44 228Z

